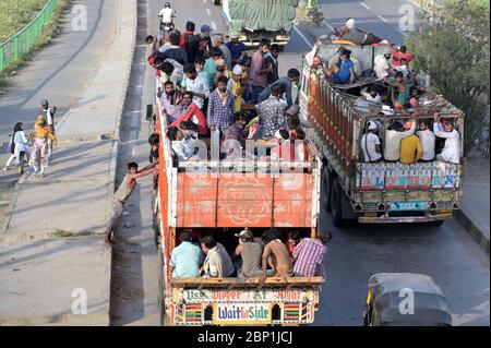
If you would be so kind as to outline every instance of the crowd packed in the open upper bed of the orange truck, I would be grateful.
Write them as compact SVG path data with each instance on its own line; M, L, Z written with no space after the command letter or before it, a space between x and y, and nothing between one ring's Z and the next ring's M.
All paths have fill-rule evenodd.
M188 22L182 33L146 38L173 155L197 159L195 142L203 141L207 148L219 144L220 159L306 160L294 92L300 73L290 69L279 76L280 48L263 39L250 57L239 33L229 33L226 43L208 25L194 32L195 24ZM264 143L265 152L244 154L247 140Z

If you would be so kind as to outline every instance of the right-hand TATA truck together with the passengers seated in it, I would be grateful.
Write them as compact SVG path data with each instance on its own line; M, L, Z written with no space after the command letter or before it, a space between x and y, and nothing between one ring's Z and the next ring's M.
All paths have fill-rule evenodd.
M371 74L386 52L322 38L306 56L300 108L324 161L321 207L336 226L347 219L439 226L459 207L464 113L421 81L411 83L418 80L411 71L407 79ZM315 69L314 57L326 69ZM352 83L330 82L347 58L363 73ZM422 145L421 159L410 142Z

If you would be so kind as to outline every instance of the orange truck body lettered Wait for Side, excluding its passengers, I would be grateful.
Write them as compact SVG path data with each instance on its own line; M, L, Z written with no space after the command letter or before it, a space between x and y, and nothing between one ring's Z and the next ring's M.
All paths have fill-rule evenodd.
M315 277L172 278L170 256L180 232L231 239L249 228L284 236L296 229L315 238L319 226L319 154L306 144L300 163L258 160L181 161L166 136L166 116L156 103L160 134L158 190L154 205L160 252L161 322L166 325L299 325L314 321L322 274ZM295 170L291 168L295 167ZM225 242L223 242L226 244ZM227 245L226 245L227 247ZM230 252L230 248L228 248Z

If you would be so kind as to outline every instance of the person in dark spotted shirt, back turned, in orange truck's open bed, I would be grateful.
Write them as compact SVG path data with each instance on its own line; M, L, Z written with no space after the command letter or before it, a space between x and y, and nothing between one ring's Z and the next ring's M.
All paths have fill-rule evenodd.
M275 133L285 124L284 108L279 101L284 89L280 84L271 87L271 96L259 104L259 129L254 134L255 139L271 140Z

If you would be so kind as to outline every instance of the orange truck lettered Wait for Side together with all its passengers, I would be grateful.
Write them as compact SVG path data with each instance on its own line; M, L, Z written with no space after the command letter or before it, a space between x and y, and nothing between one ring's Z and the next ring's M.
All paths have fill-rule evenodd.
M298 118L300 72L279 77L275 60L272 74L267 39L228 65L213 37L187 63L189 47L165 48L178 36L147 37L161 322L311 324L331 235L319 230L321 161Z

